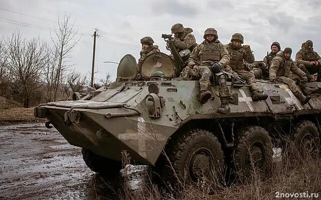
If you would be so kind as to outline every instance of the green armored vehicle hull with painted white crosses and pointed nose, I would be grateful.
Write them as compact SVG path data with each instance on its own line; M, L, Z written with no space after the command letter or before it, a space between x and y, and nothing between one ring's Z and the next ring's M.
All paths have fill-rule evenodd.
M150 83L158 85L158 95L166 100L162 110L166 114L159 117L149 117L139 108L149 94L147 85ZM228 82L234 99L229 104L231 112L225 114L216 112L220 106L220 99L214 93L218 93L216 85L212 86L212 98L201 104L199 82L194 80L124 81L117 84L114 88L100 88L99 95L90 100L41 104L35 108L35 115L47 117L72 145L119 161L120 151L126 149L135 163L154 165L171 135L192 120L263 116L277 120L284 116L318 116L321 112L318 94L302 105L287 85L264 80L258 80L258 85L269 97L258 102L252 100L249 85L234 85L231 89L231 82ZM115 93L117 95L112 95Z

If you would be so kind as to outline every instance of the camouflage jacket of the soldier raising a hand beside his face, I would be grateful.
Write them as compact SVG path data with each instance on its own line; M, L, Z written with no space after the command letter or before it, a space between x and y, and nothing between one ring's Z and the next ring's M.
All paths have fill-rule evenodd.
M243 70L244 69L244 62L243 59L248 63L254 62L254 55L251 51L251 48L248 46L247 48L240 48L240 49L233 49L232 43L225 45L226 49L228 50L231 59L227 64L227 68L230 70Z

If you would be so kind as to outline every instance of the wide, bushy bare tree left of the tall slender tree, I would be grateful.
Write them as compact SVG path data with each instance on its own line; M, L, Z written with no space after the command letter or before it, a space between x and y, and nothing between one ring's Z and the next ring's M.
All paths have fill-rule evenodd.
M46 43L39 37L22 39L20 32L13 33L6 41L9 50L7 67L15 81L15 89L24 99L24 107L29 107L30 97L35 87L41 85L40 76L46 61Z

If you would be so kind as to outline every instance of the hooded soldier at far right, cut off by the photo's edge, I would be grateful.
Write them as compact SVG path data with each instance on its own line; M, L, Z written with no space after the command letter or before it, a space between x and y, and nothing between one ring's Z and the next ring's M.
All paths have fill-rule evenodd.
M321 81L321 57L313 50L313 42L306 40L301 44L301 49L295 54L295 61L298 67L307 75L308 81L313 82L311 74L317 73L316 81Z

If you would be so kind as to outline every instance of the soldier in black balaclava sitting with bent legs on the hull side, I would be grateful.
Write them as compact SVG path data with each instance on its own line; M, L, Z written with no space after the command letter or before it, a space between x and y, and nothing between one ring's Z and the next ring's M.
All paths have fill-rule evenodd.
M307 76L295 65L291 59L291 53L292 49L289 47L286 47L283 51L276 53L276 56L272 59L271 66L269 68L269 79L271 82L277 81L287 84L300 102L305 104L311 98L308 94L315 91L317 88L311 89L306 85ZM293 73L292 77L290 77L290 71ZM298 88L294 80L298 80L298 85L300 85L300 88L306 96Z

